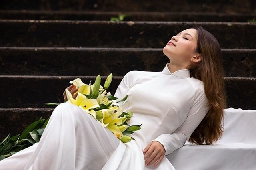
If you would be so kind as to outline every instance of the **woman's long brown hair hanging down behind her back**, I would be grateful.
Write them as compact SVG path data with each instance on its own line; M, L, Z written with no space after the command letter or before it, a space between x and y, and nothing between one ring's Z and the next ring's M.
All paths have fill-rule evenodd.
M204 30L202 26L194 26L197 30L196 51L201 53L202 60L195 65L189 65L191 77L204 82L204 92L210 110L189 138L190 143L213 144L221 138L226 108L226 91L224 89L224 71L221 48L218 40Z

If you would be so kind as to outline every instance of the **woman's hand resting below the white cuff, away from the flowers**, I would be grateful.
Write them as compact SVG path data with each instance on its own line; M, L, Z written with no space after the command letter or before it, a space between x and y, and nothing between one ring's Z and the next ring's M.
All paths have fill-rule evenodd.
M158 141L152 141L143 150L145 165L150 166L154 162L154 166L157 166L165 156L164 146ZM147 160L146 160L147 159Z

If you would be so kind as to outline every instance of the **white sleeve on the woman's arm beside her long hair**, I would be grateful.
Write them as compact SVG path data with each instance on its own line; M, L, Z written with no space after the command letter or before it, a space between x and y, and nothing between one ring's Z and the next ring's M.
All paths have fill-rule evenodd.
M203 86L199 86L195 95L192 107L189 110L188 117L172 134L161 134L152 141L158 141L166 150L168 155L174 150L184 146L196 127L200 124L206 113L208 112L208 101L204 93Z

